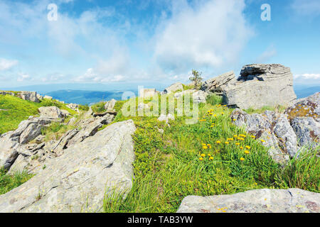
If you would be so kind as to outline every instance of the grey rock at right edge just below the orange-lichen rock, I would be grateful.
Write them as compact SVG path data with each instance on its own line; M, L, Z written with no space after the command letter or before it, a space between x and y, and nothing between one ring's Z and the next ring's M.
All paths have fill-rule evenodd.
M296 117L291 121L294 133L297 135L299 146L311 146L316 148L320 143L320 123L314 118Z

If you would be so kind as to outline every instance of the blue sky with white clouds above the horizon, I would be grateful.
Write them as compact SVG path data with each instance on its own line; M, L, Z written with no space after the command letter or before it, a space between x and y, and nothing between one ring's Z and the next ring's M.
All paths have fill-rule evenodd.
M187 83L252 63L319 85L319 25L319 0L0 0L0 87Z

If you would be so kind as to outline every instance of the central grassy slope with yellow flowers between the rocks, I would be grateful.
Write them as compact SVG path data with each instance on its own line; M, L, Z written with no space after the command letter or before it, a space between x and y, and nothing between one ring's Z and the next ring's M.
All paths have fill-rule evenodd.
M316 151L281 169L260 140L231 123L232 109L217 105L219 97L210 96L207 101L210 104L200 106L203 121L194 125L176 118L169 128L155 117L133 118L137 131L132 191L124 200L121 195L105 199L105 212L175 212L188 195L233 194L249 189L299 187L320 192ZM213 114L208 115L208 111ZM120 112L115 121L126 119ZM164 128L164 134L155 126ZM234 137L240 134L246 135L244 140ZM201 155L205 155L203 160Z

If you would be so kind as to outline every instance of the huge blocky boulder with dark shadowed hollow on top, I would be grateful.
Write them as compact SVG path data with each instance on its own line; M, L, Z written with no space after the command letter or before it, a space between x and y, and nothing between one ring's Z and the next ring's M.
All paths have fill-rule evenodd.
M289 106L295 99L290 68L279 64L245 65L223 91L225 104L240 109Z

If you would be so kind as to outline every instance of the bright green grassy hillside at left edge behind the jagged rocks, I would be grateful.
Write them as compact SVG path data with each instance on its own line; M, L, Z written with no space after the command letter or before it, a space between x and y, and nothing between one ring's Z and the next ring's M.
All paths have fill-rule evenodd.
M15 96L0 95L0 109L4 109L0 111L0 134L15 130L18 124L28 119L29 116L38 116L38 108L41 106L57 106L69 111L72 115L77 114L65 104L55 100L45 99L40 103L35 103Z

